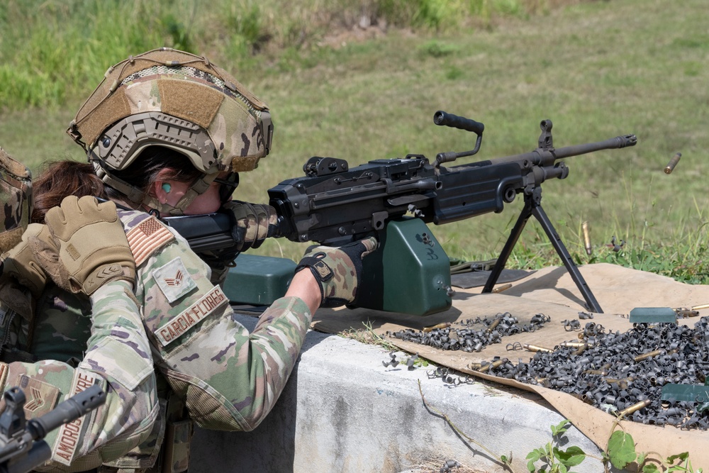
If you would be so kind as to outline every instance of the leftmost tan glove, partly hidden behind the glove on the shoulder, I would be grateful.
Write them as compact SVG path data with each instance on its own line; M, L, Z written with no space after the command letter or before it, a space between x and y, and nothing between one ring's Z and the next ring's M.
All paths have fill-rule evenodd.
M14 278L21 286L29 289L35 298L38 298L47 283L47 274L37 262L30 243L32 240L48 242L52 240L52 235L47 226L30 223L22 234L20 243L3 253L0 282L4 283L10 277Z

